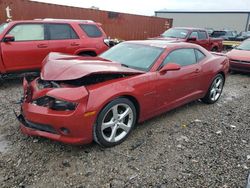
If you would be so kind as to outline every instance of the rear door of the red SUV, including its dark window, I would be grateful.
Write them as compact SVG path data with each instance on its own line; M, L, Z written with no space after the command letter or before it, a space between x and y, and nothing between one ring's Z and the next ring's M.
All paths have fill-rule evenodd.
M48 23L46 33L49 38L50 51L74 54L81 45L79 36L70 24Z

